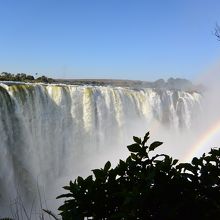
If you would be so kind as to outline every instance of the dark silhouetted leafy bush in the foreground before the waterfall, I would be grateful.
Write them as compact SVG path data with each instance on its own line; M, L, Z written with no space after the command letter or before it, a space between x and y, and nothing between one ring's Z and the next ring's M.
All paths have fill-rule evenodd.
M154 154L162 142L147 145L133 137L130 156L115 168L108 161L93 175L70 181L58 196L64 220L71 219L220 219L220 149L191 163Z

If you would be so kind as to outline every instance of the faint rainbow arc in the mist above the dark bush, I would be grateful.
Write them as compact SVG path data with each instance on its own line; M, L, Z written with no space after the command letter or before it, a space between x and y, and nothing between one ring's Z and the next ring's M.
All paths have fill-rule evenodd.
M199 141L193 144L193 147L184 160L191 161L193 157L201 155L202 153L206 153L205 149L207 149L207 147L220 147L210 146L213 144L212 141L217 138L220 139L220 120L213 126L210 126L206 132L203 132L203 134L199 136Z

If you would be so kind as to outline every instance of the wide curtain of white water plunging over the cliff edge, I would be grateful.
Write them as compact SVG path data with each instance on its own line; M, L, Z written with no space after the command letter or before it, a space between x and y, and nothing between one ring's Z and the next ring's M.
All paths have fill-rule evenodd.
M94 155L117 155L140 127L190 127L200 100L163 89L1 83L0 201L18 189L28 201L36 183L47 191L91 170Z

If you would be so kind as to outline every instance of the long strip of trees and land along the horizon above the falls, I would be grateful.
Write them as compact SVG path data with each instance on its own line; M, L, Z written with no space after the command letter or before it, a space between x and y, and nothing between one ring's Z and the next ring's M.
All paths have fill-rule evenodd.
M35 74L38 75L37 73ZM169 89L169 90L183 90L183 91L197 91L205 90L203 85L194 85L191 81L181 78L169 78L167 80L158 79L154 82L140 81L140 80L108 80L108 79L52 79L46 76L34 77L26 73L12 74L8 72L0 73L0 81L16 81L16 82L43 82L43 83L65 83L73 85L91 85L91 86L120 86L131 87L136 89L155 88L155 89Z

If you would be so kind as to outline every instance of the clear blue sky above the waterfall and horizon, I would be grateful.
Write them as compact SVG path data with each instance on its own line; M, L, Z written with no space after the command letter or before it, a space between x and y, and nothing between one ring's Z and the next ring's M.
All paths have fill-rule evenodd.
M195 79L220 61L219 0L0 0L0 72Z

